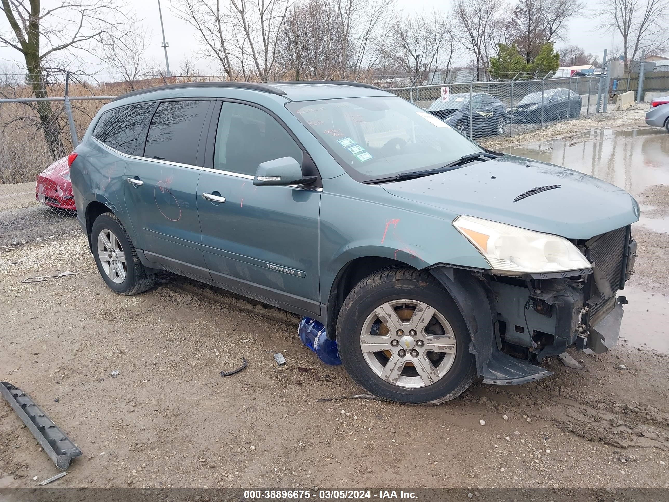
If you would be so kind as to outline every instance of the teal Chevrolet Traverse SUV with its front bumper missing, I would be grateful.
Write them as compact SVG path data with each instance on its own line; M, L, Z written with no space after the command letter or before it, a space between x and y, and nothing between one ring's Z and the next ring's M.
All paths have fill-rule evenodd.
M480 147L353 82L206 82L106 104L68 158L106 284L169 270L319 321L399 402L522 384L617 340L634 198Z

